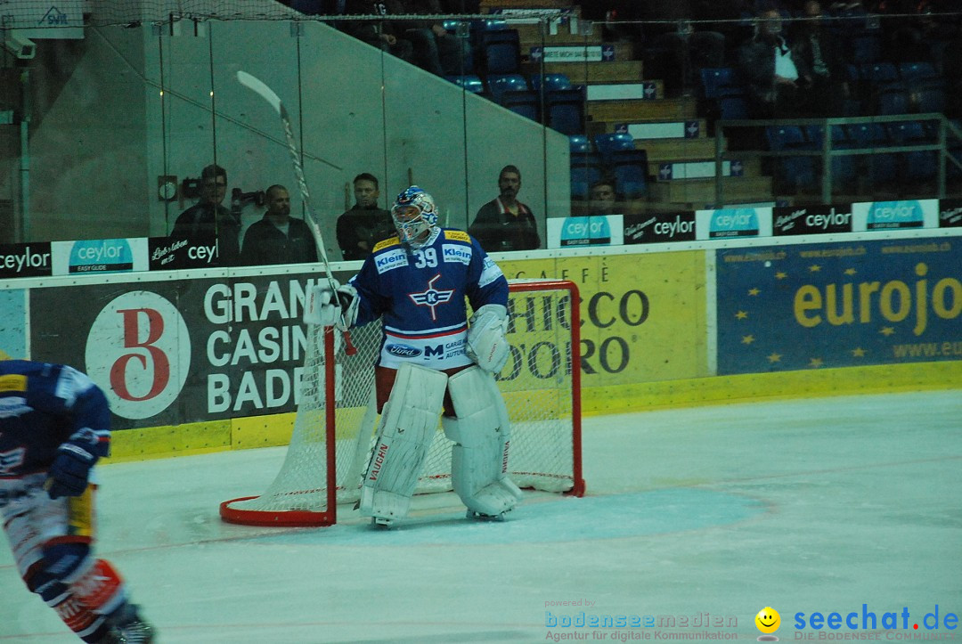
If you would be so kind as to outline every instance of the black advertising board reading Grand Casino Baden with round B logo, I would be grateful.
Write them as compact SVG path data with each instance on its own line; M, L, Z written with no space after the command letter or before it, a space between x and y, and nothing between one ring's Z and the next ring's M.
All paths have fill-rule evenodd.
M86 371L107 392L117 429L292 412L306 348L304 294L318 278L33 289L34 357Z

